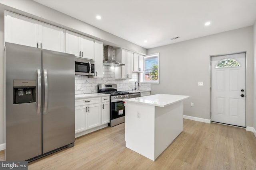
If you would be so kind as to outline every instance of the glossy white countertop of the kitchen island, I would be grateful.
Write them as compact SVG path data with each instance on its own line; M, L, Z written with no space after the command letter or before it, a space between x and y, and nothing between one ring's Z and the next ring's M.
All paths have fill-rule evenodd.
M146 104L150 106L166 107L168 105L180 102L190 96L172 95L172 94L155 94L139 98L124 99L125 102L137 104Z

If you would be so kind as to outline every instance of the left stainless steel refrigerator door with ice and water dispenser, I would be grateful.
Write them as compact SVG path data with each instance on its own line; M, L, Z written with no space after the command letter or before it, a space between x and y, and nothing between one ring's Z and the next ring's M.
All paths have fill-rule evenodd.
M6 43L6 160L28 160L42 154L42 109L40 106L40 74L42 50ZM38 81L39 78L39 81ZM14 81L16 80L16 81ZM20 81L28 80L28 81ZM14 104L14 82L32 82L36 86L35 102ZM34 83L36 82L36 83ZM15 86L18 86L17 84ZM20 88L22 89L22 88ZM40 92L38 95L38 91ZM31 91L20 90L18 97ZM39 112L38 112L39 111Z

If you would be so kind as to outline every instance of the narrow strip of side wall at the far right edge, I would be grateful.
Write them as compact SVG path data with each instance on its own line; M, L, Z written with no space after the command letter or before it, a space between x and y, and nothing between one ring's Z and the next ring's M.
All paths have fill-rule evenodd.
M256 21L253 26L254 37L254 129L256 129Z

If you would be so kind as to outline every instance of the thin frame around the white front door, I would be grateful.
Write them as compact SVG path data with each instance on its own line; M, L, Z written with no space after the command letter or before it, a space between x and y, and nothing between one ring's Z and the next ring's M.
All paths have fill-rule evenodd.
M245 53L245 89L247 89L246 86L246 77L247 77L247 52L246 51L241 51L241 52L236 52L236 53L228 53L228 54L220 54L220 55L210 55L210 122L212 122L212 57L219 57L219 56L224 56L224 55L234 55L234 54L242 54ZM245 90L245 96L246 96L246 90ZM226 123L220 123L220 124L225 124L229 125ZM229 126L235 126L235 125L229 125ZM235 126L235 127L240 127L240 126ZM246 127L246 98L245 98L245 127ZM244 127L242 127L244 128Z

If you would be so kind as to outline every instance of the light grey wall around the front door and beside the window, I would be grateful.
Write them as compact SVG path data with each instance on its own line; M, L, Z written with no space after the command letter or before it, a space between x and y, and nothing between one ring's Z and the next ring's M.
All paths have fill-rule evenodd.
M191 96L184 101L184 115L210 119L210 56L246 51L246 125L253 126L253 27L148 49L160 53L159 84L151 94ZM198 82L204 86L198 86ZM194 102L194 107L190 107Z

